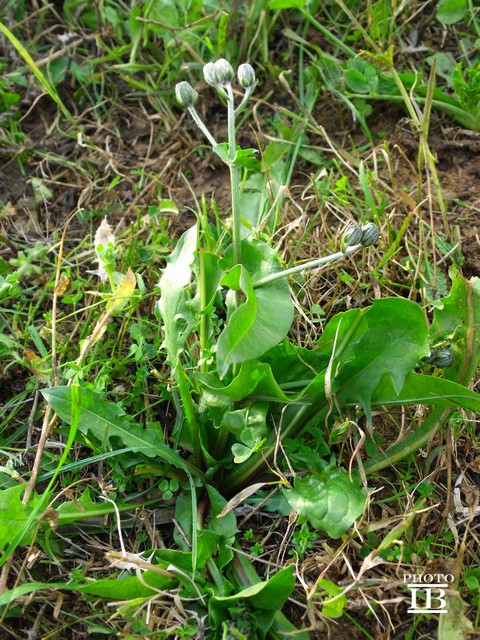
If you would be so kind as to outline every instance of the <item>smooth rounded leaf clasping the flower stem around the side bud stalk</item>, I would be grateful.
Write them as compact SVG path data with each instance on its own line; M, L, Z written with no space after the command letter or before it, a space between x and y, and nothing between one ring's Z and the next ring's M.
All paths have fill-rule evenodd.
M293 301L288 282L281 278L253 288L258 280L280 270L275 252L265 243L242 242L243 265L232 266L222 280L224 286L242 291L246 300L232 313L217 343L217 367L223 377L230 365L260 357L279 344L293 321ZM228 267L231 255L223 260Z

